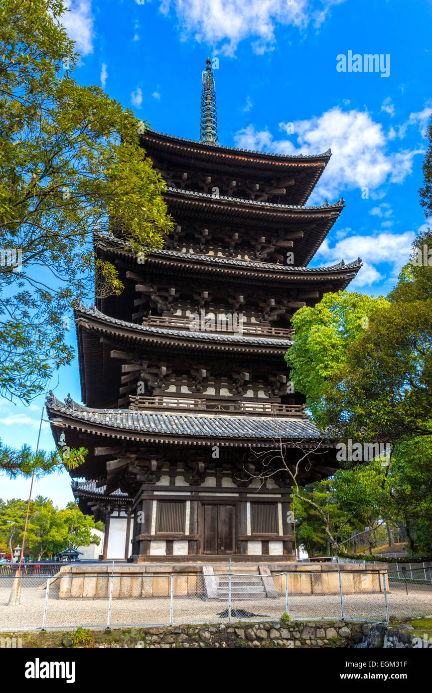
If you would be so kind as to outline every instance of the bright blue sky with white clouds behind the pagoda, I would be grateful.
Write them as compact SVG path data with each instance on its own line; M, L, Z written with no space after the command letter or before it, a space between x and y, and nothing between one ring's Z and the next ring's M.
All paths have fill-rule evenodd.
M361 256L352 290L380 295L394 286L427 223L417 190L432 112L431 0L73 0L69 8L64 24L82 56L75 79L104 87L155 130L199 137L201 71L210 57L219 60L222 145L330 147L309 204L343 196L346 207L311 264ZM390 73L338 71L337 56L348 51L389 55ZM69 337L75 344L73 329ZM51 387L80 401L76 360ZM43 399L30 407L0 401L6 444L35 447ZM53 447L46 423L41 446ZM26 498L29 485L3 477L0 497ZM69 475L45 477L35 493L64 505Z

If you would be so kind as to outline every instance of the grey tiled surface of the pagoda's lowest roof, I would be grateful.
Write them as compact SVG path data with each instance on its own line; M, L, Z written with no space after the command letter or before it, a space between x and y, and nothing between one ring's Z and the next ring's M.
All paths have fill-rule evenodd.
M139 412L120 409L90 409L82 405L71 408L55 396L46 400L48 409L70 416L76 421L95 426L157 435L175 435L215 439L287 439L320 440L321 434L309 419L275 419L263 416L228 416L226 414L177 414L170 412ZM69 399L68 404L71 404Z

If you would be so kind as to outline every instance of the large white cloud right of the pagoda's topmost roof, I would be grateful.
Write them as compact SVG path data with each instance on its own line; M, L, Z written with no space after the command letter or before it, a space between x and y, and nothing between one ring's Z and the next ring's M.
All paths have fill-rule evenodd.
M291 133L287 123L280 123L280 130ZM294 134L297 140L273 139L269 130L257 131L253 125L239 130L236 146L281 154L319 154L328 148L332 158L311 200L332 199L348 188L378 188L385 182L399 183L413 168L413 158L423 150L388 152L388 139L381 123L377 123L367 111L343 111L336 106L321 116L296 121Z

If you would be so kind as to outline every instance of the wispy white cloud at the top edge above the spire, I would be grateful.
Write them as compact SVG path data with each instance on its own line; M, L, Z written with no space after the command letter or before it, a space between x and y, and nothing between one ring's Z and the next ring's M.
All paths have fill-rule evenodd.
M191 36L199 43L219 47L225 55L233 55L240 41L254 37L255 53L273 50L278 24L305 30L309 24L318 28L330 8L344 0L163 0L160 11L168 15L172 8L182 32L182 39Z

